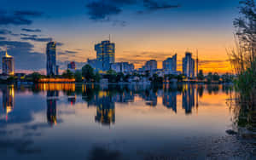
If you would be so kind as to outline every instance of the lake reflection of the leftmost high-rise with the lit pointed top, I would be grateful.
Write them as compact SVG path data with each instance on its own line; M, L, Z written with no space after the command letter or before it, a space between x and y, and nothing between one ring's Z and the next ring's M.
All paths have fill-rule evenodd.
M15 107L15 87L14 85L4 86L3 92L3 111L5 113L5 119L8 121L8 115Z

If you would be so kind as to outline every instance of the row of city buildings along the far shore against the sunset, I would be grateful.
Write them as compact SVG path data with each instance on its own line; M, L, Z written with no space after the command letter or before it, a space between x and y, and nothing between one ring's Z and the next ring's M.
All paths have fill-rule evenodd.
M46 44L46 75L47 76L57 76L60 74L59 66L57 64L57 52L56 52L57 43L50 41ZM149 71L152 75L157 71L162 71L157 74L172 74L172 75L180 75L183 73L184 76L195 78L198 76L199 70L199 59L198 52L196 53L196 60L193 58L193 53L186 52L185 56L182 60L182 68L181 70L177 70L177 54L172 55L172 57L168 57L166 60L157 61L157 60L148 60L144 62L144 65L140 68L135 68L133 63L129 63L126 61L116 62L115 61L115 43L111 43L110 37L109 40L102 41L101 43L95 44L96 51L96 59L87 59L86 62L82 63L83 65L90 65L94 69L94 71L99 71L102 73L108 70L113 70L116 72L123 72L125 74L132 73L133 71ZM9 61L9 68L6 68L6 65ZM8 61L7 61L8 60ZM3 56L3 75L14 75L15 73L19 73L19 71L15 72L14 66L14 57L6 53ZM159 67L158 63L161 62L162 66ZM76 69L81 70L82 68L76 68L75 61L67 61L67 68L63 71L70 70L75 72ZM203 71L203 70L201 70Z

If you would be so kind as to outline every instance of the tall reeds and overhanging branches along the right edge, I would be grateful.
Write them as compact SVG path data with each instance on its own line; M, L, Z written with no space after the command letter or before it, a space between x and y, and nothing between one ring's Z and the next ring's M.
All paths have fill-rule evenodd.
M256 131L256 4L254 0L240 4L240 17L234 20L236 49L228 54L237 76L237 124Z

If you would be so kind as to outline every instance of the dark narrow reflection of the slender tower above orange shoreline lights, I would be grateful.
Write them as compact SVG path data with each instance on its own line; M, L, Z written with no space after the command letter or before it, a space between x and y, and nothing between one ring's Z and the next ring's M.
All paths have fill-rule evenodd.
M57 123L57 100L59 91L47 91L47 121L50 125Z

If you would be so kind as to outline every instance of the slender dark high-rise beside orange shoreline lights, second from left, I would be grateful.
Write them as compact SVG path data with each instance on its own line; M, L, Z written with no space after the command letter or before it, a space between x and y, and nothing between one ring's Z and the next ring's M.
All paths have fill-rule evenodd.
M55 42L47 43L46 54L47 54L47 60L46 60L47 76L58 75L59 66L56 66L56 43Z

